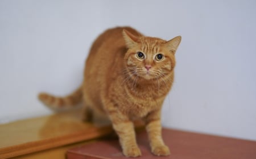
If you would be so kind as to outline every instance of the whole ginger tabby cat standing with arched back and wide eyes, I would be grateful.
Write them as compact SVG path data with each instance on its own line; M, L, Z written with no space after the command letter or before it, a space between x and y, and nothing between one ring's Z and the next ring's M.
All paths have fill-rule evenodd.
M39 99L51 108L82 102L87 119L94 111L106 114L127 157L141 156L133 120L143 119L151 152L167 156L160 111L174 80L180 41L180 36L170 41L146 37L130 27L108 29L90 49L81 87L67 97L40 93Z

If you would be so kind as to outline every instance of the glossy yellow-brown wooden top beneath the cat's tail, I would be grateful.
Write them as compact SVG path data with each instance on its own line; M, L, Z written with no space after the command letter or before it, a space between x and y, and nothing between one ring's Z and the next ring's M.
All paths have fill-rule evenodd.
M81 110L0 125L0 158L10 158L101 137L111 126L82 122Z

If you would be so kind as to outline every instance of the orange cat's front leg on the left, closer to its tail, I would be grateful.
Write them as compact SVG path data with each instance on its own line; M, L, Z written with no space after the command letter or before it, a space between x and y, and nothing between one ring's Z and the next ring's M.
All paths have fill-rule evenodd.
M126 157L141 156L141 151L136 142L133 122L131 122L125 115L118 112L118 110L110 111L109 117L112 121L113 128L119 137L119 143L121 144L123 154Z

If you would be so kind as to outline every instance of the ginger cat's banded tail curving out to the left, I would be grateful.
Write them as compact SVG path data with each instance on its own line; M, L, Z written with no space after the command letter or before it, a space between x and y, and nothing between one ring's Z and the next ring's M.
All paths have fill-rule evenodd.
M65 97L57 97L48 93L39 93L38 98L51 109L70 108L82 101L82 87Z

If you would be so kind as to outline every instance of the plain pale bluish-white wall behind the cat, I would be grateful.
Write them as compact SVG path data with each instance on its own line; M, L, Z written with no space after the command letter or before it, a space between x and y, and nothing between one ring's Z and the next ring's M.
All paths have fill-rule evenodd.
M163 124L256 140L255 1L0 1L0 123L51 113L40 91L81 84L93 40L130 25L183 37Z

